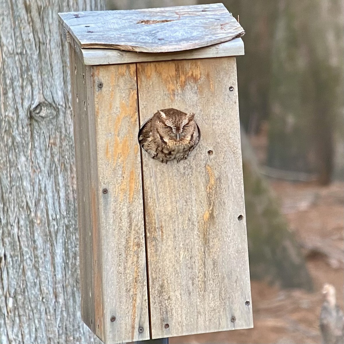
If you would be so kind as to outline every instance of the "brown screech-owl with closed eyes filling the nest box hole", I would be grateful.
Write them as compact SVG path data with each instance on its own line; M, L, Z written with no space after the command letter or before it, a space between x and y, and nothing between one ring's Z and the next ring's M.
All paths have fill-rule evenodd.
M141 128L139 142L153 159L186 159L200 139L195 114L170 108L156 112Z

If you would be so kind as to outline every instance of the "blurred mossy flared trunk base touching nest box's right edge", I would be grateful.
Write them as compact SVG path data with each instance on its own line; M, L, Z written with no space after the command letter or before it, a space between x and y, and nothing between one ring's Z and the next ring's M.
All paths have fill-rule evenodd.
M312 290L300 247L289 232L276 197L259 173L254 152L241 132L250 275L282 288Z

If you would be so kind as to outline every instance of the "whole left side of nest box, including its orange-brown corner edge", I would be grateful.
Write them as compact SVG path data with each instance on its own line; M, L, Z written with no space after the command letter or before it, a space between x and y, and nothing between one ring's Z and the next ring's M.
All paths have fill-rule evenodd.
M97 215L97 165L95 159L93 108L88 106L85 76L87 69L69 48L71 68L76 191L79 229L79 268L82 319L103 337L101 251Z

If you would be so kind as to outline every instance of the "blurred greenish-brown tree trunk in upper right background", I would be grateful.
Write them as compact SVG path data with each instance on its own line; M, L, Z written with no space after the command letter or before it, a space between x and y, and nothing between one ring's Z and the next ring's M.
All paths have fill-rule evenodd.
M281 1L274 37L268 165L330 182L343 112L343 1Z

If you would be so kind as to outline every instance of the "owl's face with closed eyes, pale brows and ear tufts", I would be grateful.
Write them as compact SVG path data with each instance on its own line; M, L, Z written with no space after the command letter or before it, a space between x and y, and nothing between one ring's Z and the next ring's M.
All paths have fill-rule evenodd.
M176 143L190 139L195 131L195 114L186 114L176 109L159 110L156 114L157 129L164 140L173 140Z

